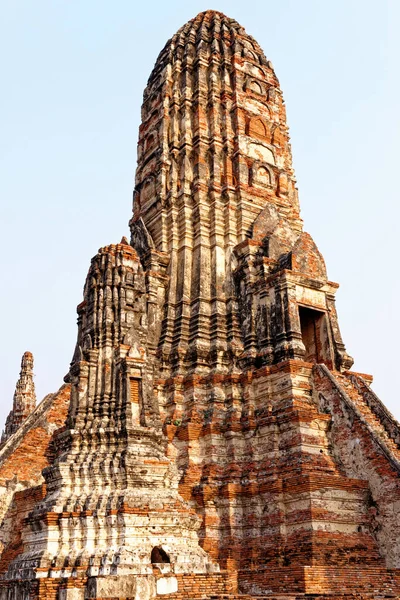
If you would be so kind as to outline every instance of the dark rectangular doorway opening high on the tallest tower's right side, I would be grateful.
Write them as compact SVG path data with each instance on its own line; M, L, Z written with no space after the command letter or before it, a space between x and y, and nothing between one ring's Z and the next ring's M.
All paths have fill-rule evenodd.
M306 362L332 364L329 335L325 313L299 306L301 337Z

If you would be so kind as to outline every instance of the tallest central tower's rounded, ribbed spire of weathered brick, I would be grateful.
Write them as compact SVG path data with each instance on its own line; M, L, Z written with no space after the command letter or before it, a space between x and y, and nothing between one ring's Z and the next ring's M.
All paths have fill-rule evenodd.
M296 239L301 220L279 82L236 21L206 11L160 53L139 130L132 245L169 259L164 364L226 370L242 352L233 250L259 237L257 217L267 206Z

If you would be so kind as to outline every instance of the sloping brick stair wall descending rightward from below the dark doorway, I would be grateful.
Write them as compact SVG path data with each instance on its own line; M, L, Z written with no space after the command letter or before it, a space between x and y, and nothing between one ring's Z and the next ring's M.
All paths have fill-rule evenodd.
M318 367L315 381L321 410L333 415L329 435L333 455L348 477L368 481L369 529L386 564L399 568L400 428L393 418L385 422L371 410L368 390L357 388L352 376L329 374Z

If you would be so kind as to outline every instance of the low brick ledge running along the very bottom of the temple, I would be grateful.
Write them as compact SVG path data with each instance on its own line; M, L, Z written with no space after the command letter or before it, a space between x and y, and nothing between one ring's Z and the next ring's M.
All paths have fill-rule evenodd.
M278 585L280 591L276 590ZM297 590L294 589L296 587ZM108 576L89 580L84 576L69 579L43 578L19 583L2 581L0 584L0 600L89 600L92 598L96 600L399 599L400 570L360 566L281 567L254 572L221 571L169 575L154 572L147 577Z

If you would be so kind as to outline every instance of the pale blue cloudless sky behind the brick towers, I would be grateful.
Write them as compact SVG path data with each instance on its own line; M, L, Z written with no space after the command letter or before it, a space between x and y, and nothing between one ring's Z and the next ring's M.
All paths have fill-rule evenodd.
M61 385L90 259L128 233L147 77L209 8L274 64L347 350L400 418L400 1L0 0L1 423L25 350L38 398Z

